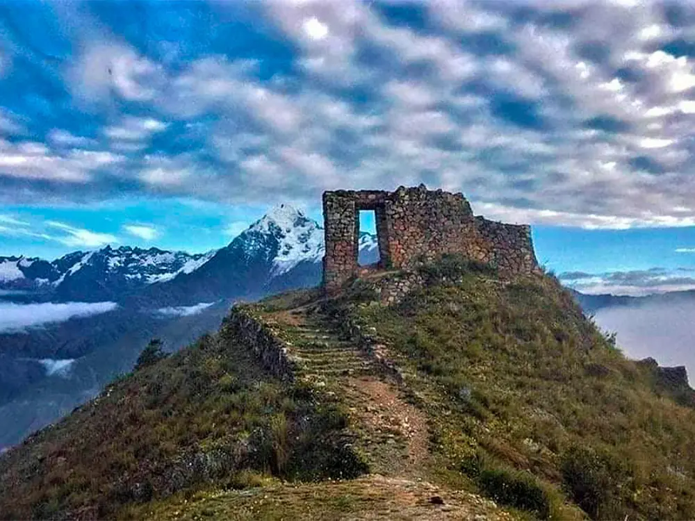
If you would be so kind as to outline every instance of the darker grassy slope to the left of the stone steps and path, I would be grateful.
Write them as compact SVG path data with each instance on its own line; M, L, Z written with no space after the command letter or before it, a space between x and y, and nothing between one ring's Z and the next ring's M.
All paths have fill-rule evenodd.
M344 427L311 388L263 372L223 324L0 456L0 518L129 518L181 491L354 477L364 468Z

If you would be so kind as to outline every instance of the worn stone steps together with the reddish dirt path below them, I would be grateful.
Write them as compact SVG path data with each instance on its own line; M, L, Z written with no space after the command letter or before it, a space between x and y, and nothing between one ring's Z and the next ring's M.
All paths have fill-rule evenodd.
M295 379L321 388L322 400L344 407L350 420L343 438L359 449L370 472L410 477L425 472L425 415L403 399L377 361L343 338L339 322L318 306L284 310L270 322L281 324Z

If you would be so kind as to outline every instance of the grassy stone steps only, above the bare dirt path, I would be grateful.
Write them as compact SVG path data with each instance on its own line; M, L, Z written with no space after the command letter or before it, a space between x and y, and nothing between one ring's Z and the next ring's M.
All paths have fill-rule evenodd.
M326 317L306 317L289 326L289 352L297 363L297 377L321 380L328 377L372 374L373 362L348 340L338 336Z

